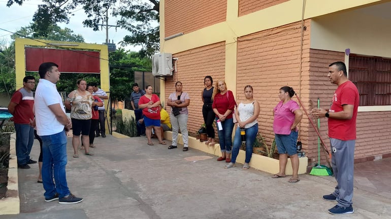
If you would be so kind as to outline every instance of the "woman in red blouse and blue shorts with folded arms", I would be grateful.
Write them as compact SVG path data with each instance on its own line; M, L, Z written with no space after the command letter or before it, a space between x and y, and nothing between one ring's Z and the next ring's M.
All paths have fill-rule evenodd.
M151 140L152 127L156 132L156 136L159 139L159 144L166 145L161 139L160 130L160 99L157 95L152 94L153 87L147 85L145 87L145 95L141 96L139 100L139 108L143 109L145 135L148 138L148 145L153 145Z

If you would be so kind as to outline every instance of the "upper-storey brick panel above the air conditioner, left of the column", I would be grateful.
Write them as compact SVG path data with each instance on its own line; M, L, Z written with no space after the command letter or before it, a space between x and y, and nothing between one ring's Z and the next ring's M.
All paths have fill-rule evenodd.
M225 21L227 0L166 0L165 37Z

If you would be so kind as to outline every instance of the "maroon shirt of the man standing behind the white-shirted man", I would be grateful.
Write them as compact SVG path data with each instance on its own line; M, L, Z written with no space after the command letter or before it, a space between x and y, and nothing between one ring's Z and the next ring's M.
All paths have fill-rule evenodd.
M18 124L29 124L30 119L34 120L34 113L32 113L32 107L34 107L34 96L32 92L27 92L24 87L17 90L11 98L11 102L16 103L14 118L12 119Z

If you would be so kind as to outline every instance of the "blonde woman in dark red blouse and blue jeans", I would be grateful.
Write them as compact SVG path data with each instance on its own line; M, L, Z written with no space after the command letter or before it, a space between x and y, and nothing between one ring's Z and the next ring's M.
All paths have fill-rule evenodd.
M236 106L234 94L228 91L226 83L223 80L218 80L216 83L217 89L213 93L213 112L216 114L216 122L221 122L222 130L218 130L218 139L221 149L221 157L218 161L225 160L231 162L232 149L232 130L234 128L234 119L232 113Z

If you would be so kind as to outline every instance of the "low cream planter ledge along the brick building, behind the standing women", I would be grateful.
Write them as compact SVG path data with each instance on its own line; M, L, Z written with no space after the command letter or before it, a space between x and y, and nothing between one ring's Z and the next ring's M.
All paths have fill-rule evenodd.
M165 139L172 141L172 132L166 131L164 135L165 135ZM178 135L178 144L183 145L183 140L182 140L181 134ZM209 154L213 154L215 156L221 156L219 144L215 144L212 147L207 146L207 145L205 145L204 142L200 142L200 140L197 140L196 138L190 137L190 136L189 136L189 147L206 152L206 153L209 153ZM246 152L243 150L239 150L239 155L236 158L236 162L243 164L245 157L246 157ZM307 157L300 157L299 162L300 162L299 174L306 173L307 166L308 166L308 158ZM274 174L279 171L279 160L253 153L252 157L251 157L251 161L249 163L249 166L253 167L255 169L259 169L259 170ZM287 175L292 174L292 165L290 162L290 158L288 158L285 173Z

